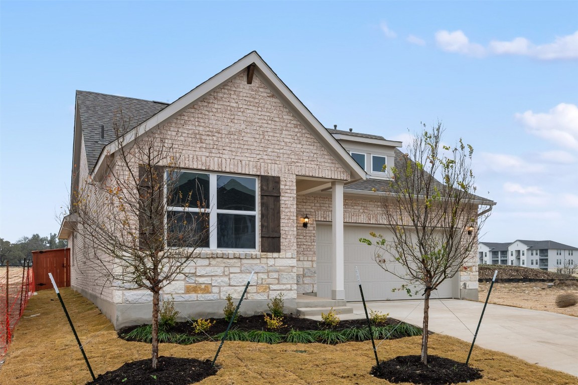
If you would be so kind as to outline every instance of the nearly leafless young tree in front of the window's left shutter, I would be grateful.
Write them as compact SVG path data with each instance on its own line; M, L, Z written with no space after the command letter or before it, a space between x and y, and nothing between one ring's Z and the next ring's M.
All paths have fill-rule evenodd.
M208 210L199 185L179 180L168 132L159 127L139 137L139 128L129 126L120 111L113 123L117 149L106 154L102 173L79 181L70 211L83 245L77 265L98 271L103 285L152 293L156 369L160 293L208 244Z

